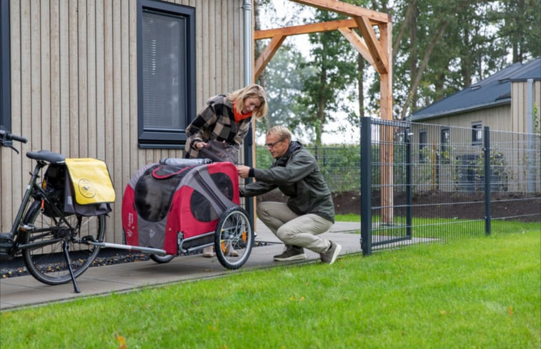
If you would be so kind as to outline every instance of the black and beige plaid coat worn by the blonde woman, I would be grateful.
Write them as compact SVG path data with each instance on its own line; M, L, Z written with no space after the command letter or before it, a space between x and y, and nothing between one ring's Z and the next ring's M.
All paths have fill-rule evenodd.
M207 105L197 114L194 121L186 128L187 141L184 151L187 158L197 158L199 150L195 148L198 141L226 141L237 148L237 151L249 131L252 118L245 118L235 123L233 105L227 96L220 94L209 98Z

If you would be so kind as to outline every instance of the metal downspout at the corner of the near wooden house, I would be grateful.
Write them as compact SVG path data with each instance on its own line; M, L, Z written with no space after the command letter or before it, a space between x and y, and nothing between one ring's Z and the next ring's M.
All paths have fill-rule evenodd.
M243 47L244 47L244 86L252 84L252 0L242 0L242 12L244 14L244 32L243 32ZM244 138L244 165L254 167L253 161L253 145L254 145L254 123ZM244 183L248 184L253 181L252 178L246 178ZM246 211L252 220L252 227L255 227L254 200L246 199Z

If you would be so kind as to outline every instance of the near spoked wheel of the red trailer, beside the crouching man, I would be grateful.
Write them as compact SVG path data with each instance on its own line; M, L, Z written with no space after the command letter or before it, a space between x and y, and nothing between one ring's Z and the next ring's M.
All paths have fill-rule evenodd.
M218 261L228 269L246 263L254 246L254 230L244 208L228 208L219 218L214 232L214 251Z

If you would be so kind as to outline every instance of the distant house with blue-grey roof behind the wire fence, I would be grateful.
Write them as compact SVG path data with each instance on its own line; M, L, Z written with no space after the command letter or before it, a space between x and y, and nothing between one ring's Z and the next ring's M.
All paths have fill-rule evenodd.
M491 162L496 166L493 189L540 191L535 179L540 176L539 159L529 158L532 148L540 148L540 107L541 57L512 64L413 113L415 161L433 168L420 171L425 174L417 176L417 183L432 188L447 178L448 185L439 185L440 190L455 191L460 184L477 190L488 126Z

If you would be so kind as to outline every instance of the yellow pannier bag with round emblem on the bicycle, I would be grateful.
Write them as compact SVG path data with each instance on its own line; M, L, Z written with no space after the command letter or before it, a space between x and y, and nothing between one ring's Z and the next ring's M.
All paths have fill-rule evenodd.
M114 202L114 187L104 161L96 158L66 158L73 198L79 205Z

